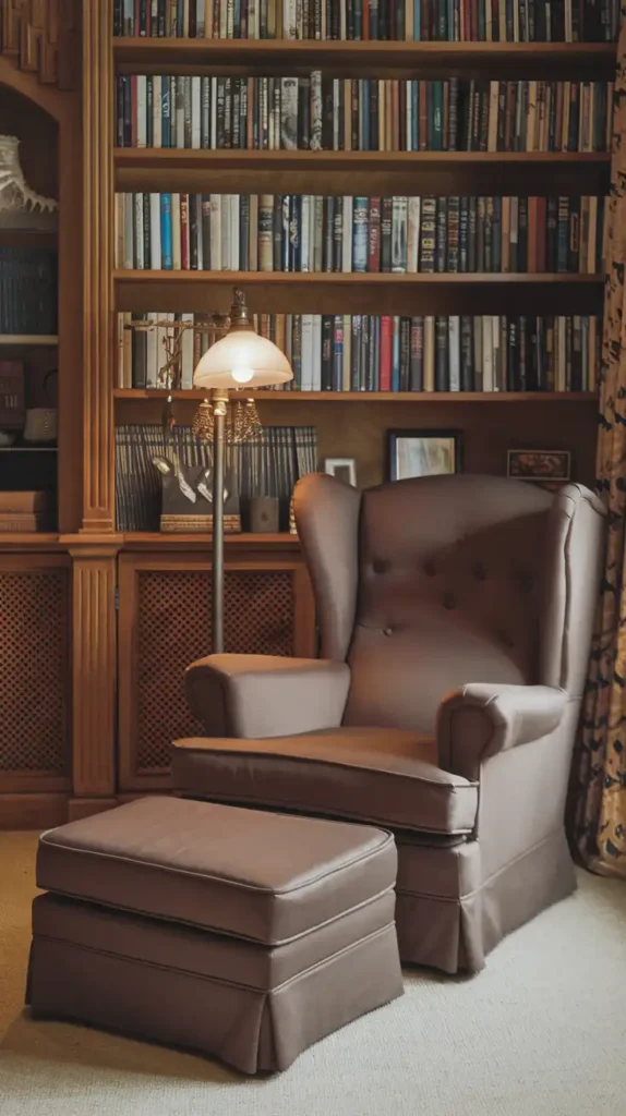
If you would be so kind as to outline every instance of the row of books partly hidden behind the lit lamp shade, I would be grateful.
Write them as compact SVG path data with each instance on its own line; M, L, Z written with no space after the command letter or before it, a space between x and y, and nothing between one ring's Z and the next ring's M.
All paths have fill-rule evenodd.
M118 385L170 386L160 372L163 316L147 331L132 328L127 315L118 319ZM206 347L196 321L183 350L183 389ZM260 315L256 328L290 360L287 387L302 392L594 391L601 343L598 319L587 316Z

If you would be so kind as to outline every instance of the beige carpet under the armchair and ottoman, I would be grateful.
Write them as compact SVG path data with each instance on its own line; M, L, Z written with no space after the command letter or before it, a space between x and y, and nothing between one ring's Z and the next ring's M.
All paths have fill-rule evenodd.
M32 834L0 834L1 1116L619 1116L626 1112L626 886L580 889L471 980L406 993L248 1080L191 1055L22 1010Z

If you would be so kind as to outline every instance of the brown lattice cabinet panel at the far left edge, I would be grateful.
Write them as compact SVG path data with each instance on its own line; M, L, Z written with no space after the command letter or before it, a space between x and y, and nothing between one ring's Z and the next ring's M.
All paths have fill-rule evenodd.
M0 789L69 773L69 570L29 561L0 557Z

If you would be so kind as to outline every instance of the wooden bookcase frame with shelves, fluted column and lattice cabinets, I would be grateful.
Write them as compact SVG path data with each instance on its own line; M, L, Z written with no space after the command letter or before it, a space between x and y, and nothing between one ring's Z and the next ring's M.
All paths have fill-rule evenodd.
M0 0L0 81L50 114L59 143L59 531L0 540L0 579L23 579L11 620L21 658L12 663L20 693L37 714L28 741L16 743L22 768L18 762L0 770L0 827L46 826L166 788L161 713L171 716L167 733L194 731L183 723L180 675L187 652L208 644L201 612L206 540L115 529L115 423L158 422L163 403L157 392L116 387L118 310L225 310L235 281L251 309L262 312L593 314L603 302L599 276L117 272L116 190L205 190L210 172L215 191L305 192L315 160L318 193L355 193L366 173L368 190L382 194L601 194L610 161L601 153L116 151L115 75L297 75L321 68L341 77L613 80L616 47L114 40L113 0ZM469 471L502 473L507 449L523 444L569 449L576 475L587 483L594 478L597 405L589 393L286 392L258 398L264 423L316 426L320 459L354 456L364 485L383 479L386 431L394 426L461 430ZM196 404L193 392L176 398L177 420L189 422ZM229 539L227 579L229 573L233 608L243 584L264 602L261 619L279 603L280 624L263 647L314 651L311 597L296 538ZM57 623L52 666L45 656L57 718L54 754L46 709L32 686L31 668L44 653L36 627L30 645L21 639L20 609L32 616L37 608ZM252 628L241 623L243 643L259 638ZM179 657L171 651L176 641Z

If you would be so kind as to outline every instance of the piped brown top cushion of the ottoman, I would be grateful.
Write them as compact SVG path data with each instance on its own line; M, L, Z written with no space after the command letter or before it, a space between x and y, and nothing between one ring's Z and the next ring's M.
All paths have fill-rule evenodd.
M37 884L264 945L393 888L391 834L177 798L145 798L44 834Z

